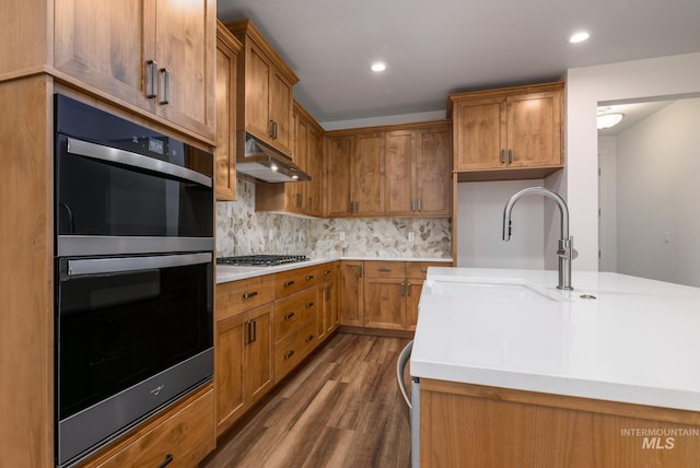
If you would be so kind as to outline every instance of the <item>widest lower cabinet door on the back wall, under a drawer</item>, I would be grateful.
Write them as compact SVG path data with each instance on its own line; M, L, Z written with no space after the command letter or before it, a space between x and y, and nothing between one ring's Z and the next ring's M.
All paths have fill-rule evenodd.
M364 326L405 330L406 281L395 278L364 279Z

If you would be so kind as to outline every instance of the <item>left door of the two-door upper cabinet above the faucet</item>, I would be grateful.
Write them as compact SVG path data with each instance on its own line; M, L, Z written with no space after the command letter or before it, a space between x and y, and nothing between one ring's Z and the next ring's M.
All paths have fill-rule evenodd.
M505 167L505 100L466 100L454 104L454 168Z

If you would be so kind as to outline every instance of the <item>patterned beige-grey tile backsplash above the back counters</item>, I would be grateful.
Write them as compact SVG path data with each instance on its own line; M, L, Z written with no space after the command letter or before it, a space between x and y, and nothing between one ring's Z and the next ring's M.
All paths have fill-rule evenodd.
M443 218L305 219L256 212L255 184L238 179L237 201L217 202L217 255L250 254L450 258L451 225Z

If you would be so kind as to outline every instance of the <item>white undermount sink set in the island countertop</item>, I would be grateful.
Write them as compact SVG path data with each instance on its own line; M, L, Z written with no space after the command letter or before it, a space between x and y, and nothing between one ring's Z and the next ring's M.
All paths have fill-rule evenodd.
M497 303L558 302L559 299L546 290L520 281L474 280L474 281L427 281L424 291L430 295L447 295L469 300L485 300Z

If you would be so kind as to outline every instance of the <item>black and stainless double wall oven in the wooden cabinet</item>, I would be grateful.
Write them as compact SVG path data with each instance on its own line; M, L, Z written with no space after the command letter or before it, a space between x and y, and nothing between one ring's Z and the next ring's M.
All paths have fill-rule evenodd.
M56 464L213 375L212 155L55 96Z

